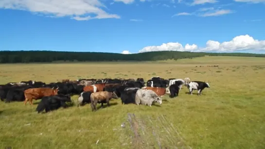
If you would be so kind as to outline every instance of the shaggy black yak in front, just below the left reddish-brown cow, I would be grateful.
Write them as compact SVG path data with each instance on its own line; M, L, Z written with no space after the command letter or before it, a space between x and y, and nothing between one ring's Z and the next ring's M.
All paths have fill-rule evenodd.
M66 108L67 105L65 102L71 102L70 95L54 95L54 96L45 96L41 98L41 101L39 102L36 111L38 113L45 110L45 112L56 110L60 107Z

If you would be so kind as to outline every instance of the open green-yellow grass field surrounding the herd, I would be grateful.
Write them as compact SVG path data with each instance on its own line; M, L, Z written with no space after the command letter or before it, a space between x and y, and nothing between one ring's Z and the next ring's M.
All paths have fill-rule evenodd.
M265 58L0 65L0 84L119 77L147 81L153 76L210 81L211 88L201 97L182 88L177 98L165 95L161 106L112 99L110 107L95 113L88 104L37 114L37 104L0 102L0 149L265 149Z

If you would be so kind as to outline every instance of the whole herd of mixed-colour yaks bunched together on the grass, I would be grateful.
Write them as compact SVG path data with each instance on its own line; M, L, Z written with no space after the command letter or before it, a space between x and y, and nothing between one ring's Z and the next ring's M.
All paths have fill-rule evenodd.
M146 86L145 86L146 84ZM0 99L5 103L11 101L27 101L33 103L33 99L41 99L36 111L38 113L53 111L59 107L67 107L66 102L71 101L71 95L79 95L77 106L90 103L92 111L96 111L97 103L106 103L109 106L110 99L121 98L123 104L144 104L151 106L154 102L162 104L161 97L169 94L170 98L178 96L182 85L187 86L190 94L193 90L201 95L202 90L209 83L192 81L190 78L163 79L152 77L146 83L143 78L135 79L80 79L71 81L62 80L57 83L43 83L36 81L22 81L20 83L7 83L0 85Z

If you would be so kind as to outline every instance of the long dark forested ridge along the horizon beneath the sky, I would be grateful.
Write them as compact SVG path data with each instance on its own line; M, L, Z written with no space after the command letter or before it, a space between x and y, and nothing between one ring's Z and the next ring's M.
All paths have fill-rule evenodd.
M209 56L265 57L252 53L206 53L180 51L154 51L137 54L105 52L65 52L65 51L0 51L0 63L49 63L54 61L158 61Z

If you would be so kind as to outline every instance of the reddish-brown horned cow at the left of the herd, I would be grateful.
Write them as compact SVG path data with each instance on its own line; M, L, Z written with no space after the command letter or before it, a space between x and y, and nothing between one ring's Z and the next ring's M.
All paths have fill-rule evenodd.
M58 94L58 88L30 88L24 91L25 101L24 104L26 105L28 100L30 105L32 105L33 99L41 99L44 96L54 96Z

